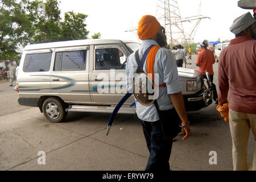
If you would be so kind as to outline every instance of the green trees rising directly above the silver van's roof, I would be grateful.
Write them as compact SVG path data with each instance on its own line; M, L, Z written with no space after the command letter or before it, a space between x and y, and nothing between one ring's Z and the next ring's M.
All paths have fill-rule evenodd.
M30 43L47 43L64 40L87 39L89 31L86 30L85 20L87 15L75 14L73 11L65 13L62 21L57 0L47 0L45 13L41 13L40 6L42 1L33 1L27 10L33 20L34 35Z

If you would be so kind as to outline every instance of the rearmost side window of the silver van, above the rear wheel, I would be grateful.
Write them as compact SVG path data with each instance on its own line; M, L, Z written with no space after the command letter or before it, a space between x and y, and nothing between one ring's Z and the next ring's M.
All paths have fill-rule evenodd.
M27 54L23 65L23 72L47 72L50 70L52 53Z

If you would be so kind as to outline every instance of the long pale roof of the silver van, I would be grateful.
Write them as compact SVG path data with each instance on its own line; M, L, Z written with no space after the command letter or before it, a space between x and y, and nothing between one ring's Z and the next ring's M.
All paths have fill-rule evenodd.
M69 40L62 42L51 42L42 44L31 44L24 48L24 51L35 50L35 49L47 49L57 47L70 47L70 46L87 46L90 44L110 44L110 43L127 43L134 42L131 40L115 40L115 39L83 39L83 40Z

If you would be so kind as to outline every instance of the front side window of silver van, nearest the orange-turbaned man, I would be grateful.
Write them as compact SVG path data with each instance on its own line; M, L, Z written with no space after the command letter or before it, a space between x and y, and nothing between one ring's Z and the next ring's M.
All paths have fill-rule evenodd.
M123 53L117 48L105 48L95 50L95 69L125 69L121 68L120 56Z

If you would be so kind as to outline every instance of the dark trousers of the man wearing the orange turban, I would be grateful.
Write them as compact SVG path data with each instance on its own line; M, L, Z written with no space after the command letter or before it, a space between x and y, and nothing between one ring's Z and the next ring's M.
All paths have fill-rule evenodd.
M173 138L181 131L175 109L160 112L167 139L163 137L161 121L147 122L139 119L150 153L145 171L170 171L169 159Z

